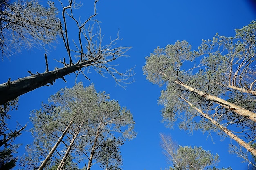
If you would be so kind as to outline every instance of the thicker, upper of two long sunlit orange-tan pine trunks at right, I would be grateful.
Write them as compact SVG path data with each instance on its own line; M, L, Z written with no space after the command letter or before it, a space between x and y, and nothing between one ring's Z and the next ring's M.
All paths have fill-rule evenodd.
M167 75L165 75L165 74L162 73L162 72L159 72L159 73L162 74L162 75L164 75L165 77L168 77ZM173 80L171 80L171 79L169 79L169 80L170 80L170 81L173 81ZM198 89L196 89L196 88L193 88L193 87L191 87L191 86L189 86L189 85L187 85L187 84L184 84L184 83L182 83L181 81L175 80L175 81L173 81L173 82L175 82L176 84L178 84L178 85L180 85L180 86L186 88L186 89L189 90L189 91L192 91L192 92L194 92L194 93L200 95L201 97L204 97L206 100L210 100L210 101L212 101L212 102L218 103L218 104L220 104L222 107L225 107L225 108L227 108L227 109L229 109L229 110L231 110L231 111L237 113L238 115L247 117L248 119L250 119L250 120L256 122L256 113L254 113L254 112L251 112L251 111L249 111L249 110L246 110L245 108L242 108L242 107L239 107L239 106L237 106L237 105L235 105L235 104L232 104L232 103L230 103L230 102L227 102L226 100L223 100L223 99L221 99L221 98L219 98L219 97L216 97L216 96L207 94L207 93L205 93L205 92L203 92L203 91L200 91L200 90L198 90Z

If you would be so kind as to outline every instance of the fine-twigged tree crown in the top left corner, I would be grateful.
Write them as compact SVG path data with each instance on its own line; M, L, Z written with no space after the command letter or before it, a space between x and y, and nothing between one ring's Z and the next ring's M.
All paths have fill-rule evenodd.
M43 7L37 0L0 1L0 51L2 57L32 46L52 43L59 31L54 2Z

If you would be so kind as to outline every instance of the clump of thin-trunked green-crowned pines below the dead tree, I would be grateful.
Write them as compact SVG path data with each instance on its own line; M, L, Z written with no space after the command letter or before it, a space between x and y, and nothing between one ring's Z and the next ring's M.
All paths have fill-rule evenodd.
M130 111L109 98L93 85L83 88L81 83L51 96L52 105L33 111L35 139L22 164L27 169L58 165L62 170L69 161L85 163L87 159L87 170L94 163L118 168L122 162L119 147L136 134ZM74 159L67 159L70 156Z

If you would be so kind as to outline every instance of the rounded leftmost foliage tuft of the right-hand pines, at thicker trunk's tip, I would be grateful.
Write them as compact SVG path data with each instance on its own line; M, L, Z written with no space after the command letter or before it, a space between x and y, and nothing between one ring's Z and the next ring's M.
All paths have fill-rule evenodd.
M162 86L168 79L176 79L177 71L183 62L193 60L191 45L185 40L177 41L174 45L167 45L165 49L157 47L149 57L146 57L146 65L143 66L144 75L153 84ZM168 78L163 74L168 75Z

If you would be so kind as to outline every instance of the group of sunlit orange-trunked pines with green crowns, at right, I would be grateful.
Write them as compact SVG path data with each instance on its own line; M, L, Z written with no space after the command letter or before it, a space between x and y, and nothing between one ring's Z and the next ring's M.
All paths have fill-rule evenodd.
M256 155L255 35L253 21L234 37L217 33L203 40L198 51L177 41L146 57L146 78L166 84L159 99L163 120L172 126L180 118L185 130L218 132Z

